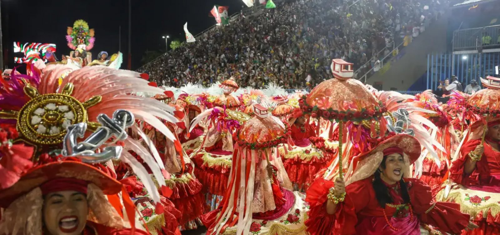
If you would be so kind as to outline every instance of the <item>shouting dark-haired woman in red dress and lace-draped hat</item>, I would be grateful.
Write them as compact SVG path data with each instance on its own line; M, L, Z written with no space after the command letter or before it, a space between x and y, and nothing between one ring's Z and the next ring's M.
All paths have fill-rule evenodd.
M420 223L431 225L424 226L430 234L474 227L458 204L435 202L429 186L402 177L419 155L418 141L398 134L354 157L354 171L346 175L345 183L342 178L335 183L314 181L306 196L308 231L313 235L419 235Z

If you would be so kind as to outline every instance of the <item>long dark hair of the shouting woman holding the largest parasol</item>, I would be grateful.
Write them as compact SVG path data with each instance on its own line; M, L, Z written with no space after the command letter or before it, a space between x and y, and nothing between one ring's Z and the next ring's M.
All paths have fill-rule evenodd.
M382 169L385 169L385 159L387 159L387 156L383 156L382 162L380 163ZM404 182L402 177L401 180L399 180L399 185L401 186L401 197L403 198L404 203L409 203L408 187L406 186L406 183ZM375 190L376 200L382 208L385 208L386 203L393 202L392 198L389 195L387 186L385 186L385 184L382 182L382 179L380 178L380 171L378 169L374 173L373 190Z

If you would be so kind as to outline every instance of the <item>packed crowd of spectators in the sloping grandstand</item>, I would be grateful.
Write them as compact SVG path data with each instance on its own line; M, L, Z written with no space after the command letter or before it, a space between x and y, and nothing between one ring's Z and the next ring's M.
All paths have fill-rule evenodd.
M415 36L446 7L438 0L298 0L240 16L139 68L159 85L208 85L233 76L241 86L314 86L331 76L332 58L363 75ZM379 51L382 51L379 53ZM311 79L306 83L306 77Z

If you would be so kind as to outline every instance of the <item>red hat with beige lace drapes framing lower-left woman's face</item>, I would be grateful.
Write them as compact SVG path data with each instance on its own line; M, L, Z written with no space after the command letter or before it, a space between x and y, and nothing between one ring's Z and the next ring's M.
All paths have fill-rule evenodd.
M135 230L135 211L123 185L103 171L80 161L55 161L32 167L10 187L0 190L0 207L4 207L0 233L42 234L43 196L52 192L77 191L86 195L87 221L117 229L124 228L124 212L129 218L131 234ZM108 195L107 197L105 195ZM29 208L26 210L26 208Z

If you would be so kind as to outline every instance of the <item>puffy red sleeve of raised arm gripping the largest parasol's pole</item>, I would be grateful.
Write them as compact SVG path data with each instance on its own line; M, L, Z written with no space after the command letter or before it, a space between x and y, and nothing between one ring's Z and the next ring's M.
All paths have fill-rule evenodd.
M362 183L354 182L346 186L345 200L338 203L334 214L326 213L326 195L334 183L322 178L316 179L307 189L305 201L309 203L309 217L305 220L311 235L352 235L356 234L356 212L368 204L368 190Z

